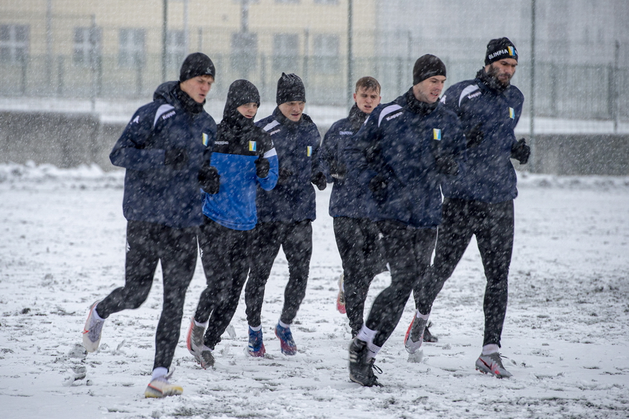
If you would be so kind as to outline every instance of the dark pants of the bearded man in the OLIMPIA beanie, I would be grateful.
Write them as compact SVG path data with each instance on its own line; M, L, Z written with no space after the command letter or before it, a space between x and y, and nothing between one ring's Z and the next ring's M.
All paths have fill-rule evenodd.
M415 305L419 313L430 313L433 301L463 257L473 234L487 278L483 345L494 343L500 346L507 313L507 276L513 250L513 200L488 204L446 198L442 211L433 267L414 289Z

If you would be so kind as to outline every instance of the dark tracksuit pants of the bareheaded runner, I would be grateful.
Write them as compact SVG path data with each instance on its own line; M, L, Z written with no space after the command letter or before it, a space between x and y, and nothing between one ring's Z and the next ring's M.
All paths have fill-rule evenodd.
M333 218L336 246L343 265L345 311L356 336L363 325L363 311L373 277L386 271L379 229L366 218Z

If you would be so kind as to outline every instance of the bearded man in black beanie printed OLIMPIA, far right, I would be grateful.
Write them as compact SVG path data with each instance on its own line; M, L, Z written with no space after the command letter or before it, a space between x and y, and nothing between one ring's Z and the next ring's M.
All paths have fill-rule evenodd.
M500 360L500 336L507 311L507 275L513 249L513 200L516 173L511 159L528 161L530 149L516 141L514 128L522 111L523 94L511 85L518 53L507 38L487 44L485 66L473 80L449 87L444 105L463 124L468 160L462 176L444 181L443 222L433 267L415 287L417 313L405 340L410 353L421 346L421 334L433 301L476 236L487 285L484 297L485 332L476 369L498 378L510 377Z

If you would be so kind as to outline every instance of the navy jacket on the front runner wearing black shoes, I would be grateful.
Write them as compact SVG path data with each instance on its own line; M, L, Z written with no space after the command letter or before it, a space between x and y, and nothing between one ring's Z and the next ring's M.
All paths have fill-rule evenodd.
M435 156L451 156L461 167L465 136L443 104L427 114L414 113L410 95L377 106L345 148L346 159L364 185L376 174L387 179L386 199L371 201L369 218L433 228L441 222L440 183L446 177L438 173Z

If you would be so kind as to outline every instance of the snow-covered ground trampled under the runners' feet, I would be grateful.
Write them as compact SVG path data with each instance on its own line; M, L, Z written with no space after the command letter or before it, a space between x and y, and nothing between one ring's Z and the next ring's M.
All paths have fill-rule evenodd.
M347 373L347 320L335 311L340 258L317 192L308 292L293 327L299 353L273 335L287 280L275 263L263 307L268 356L245 354L241 300L214 369L199 369L182 325L173 381L181 397L145 399L161 274L137 311L112 315L101 349L80 346L87 308L123 283L122 171L0 165L0 406L3 418L627 418L629 178L521 173L503 333L514 376L479 374L484 276L475 243L435 306L423 358L409 359L403 319L379 354L382 388ZM194 311L201 265L186 299ZM389 283L373 283L368 304Z

